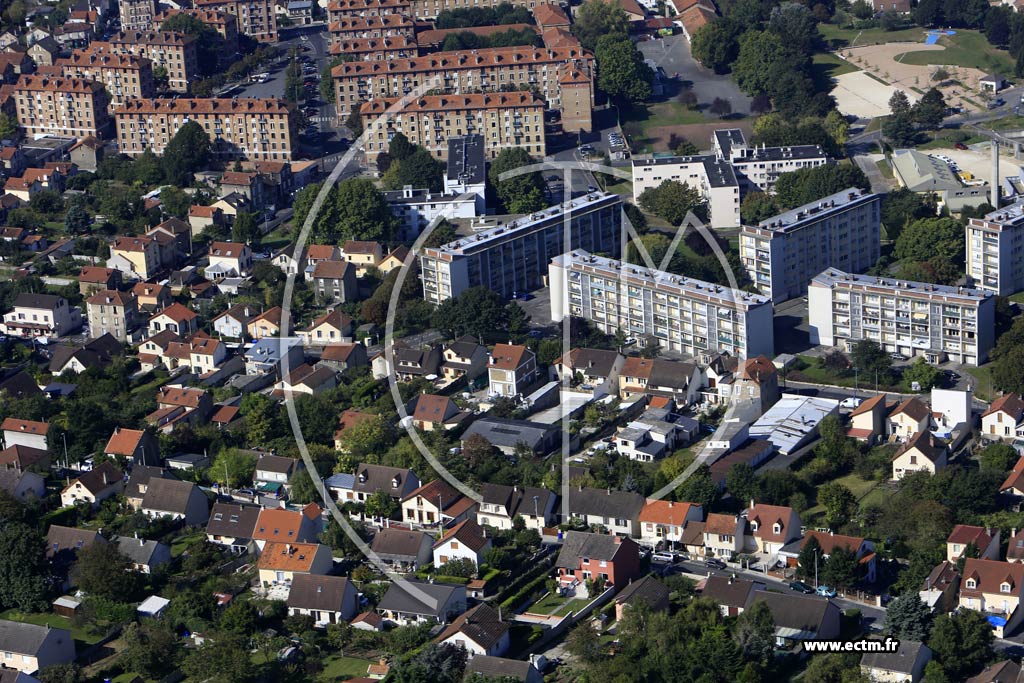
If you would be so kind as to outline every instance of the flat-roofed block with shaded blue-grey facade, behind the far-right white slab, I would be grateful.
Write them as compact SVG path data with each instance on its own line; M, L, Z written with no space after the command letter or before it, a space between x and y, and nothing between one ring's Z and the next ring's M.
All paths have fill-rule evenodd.
M739 229L739 258L775 303L807 293L825 268L866 270L879 260L882 196L849 187Z

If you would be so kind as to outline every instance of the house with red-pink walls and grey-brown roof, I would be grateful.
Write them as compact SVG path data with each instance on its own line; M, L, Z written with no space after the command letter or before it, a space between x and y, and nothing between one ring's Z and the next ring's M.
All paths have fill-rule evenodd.
M628 538L570 530L565 532L555 566L563 593L587 597L587 582L600 579L605 585L625 588L639 579L640 547Z

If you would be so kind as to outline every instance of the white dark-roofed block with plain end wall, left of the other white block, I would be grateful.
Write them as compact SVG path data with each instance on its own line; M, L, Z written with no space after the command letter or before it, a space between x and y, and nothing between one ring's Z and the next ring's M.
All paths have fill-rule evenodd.
M739 227L739 181L728 162L715 155L633 158L634 195L639 197L667 180L700 191L712 227Z

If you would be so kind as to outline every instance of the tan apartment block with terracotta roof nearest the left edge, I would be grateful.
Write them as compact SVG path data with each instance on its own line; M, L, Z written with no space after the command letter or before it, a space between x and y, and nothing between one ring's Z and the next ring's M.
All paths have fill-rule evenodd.
M110 134L108 95L98 81L25 75L12 92L15 117L27 137Z

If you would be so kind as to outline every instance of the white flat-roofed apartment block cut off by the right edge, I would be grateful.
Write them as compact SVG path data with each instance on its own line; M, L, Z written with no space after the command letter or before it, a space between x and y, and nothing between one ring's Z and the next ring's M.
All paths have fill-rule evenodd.
M999 296L1024 290L1024 201L968 221L967 274Z

